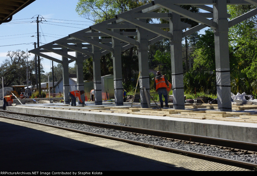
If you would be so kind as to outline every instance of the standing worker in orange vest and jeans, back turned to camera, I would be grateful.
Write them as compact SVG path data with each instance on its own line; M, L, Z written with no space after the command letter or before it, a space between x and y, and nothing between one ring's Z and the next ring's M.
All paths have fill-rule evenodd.
M168 94L167 88L169 87L169 81L164 75L161 75L160 71L157 71L156 76L154 78L154 88L159 94L159 99L161 103L161 108L163 108L163 100L162 95L165 99L165 107L169 107L168 105Z

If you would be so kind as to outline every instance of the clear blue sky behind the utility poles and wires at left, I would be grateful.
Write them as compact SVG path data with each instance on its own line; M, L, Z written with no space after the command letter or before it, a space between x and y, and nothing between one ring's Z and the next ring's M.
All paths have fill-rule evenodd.
M13 16L11 22L0 25L0 63L7 57L8 51L29 51L34 49L34 42L37 42L36 17L39 20L40 45L58 40L71 33L80 31L93 25L93 22L80 17L76 11L77 0L36 0ZM67 24L70 23L70 24ZM70 26L70 27L67 27ZM206 29L205 29L206 30ZM204 32L204 30L201 30ZM200 32L200 33L201 33ZM28 52L28 54L30 54ZM69 53L75 55L75 53ZM49 54L61 59L60 55ZM31 60L34 54L28 60ZM41 62L45 72L51 71L52 61L43 58ZM58 63L54 62L54 66ZM70 63L71 67L74 62Z

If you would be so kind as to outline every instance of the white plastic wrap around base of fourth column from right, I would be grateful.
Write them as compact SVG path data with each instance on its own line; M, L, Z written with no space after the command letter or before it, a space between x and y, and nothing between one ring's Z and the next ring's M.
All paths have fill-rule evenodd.
M114 99L115 99L115 106L122 106L123 105L123 86L122 86L122 79L114 79Z

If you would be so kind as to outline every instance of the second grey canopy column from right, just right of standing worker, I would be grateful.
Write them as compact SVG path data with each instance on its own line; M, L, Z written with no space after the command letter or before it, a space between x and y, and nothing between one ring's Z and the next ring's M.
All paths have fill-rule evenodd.
M171 11L169 13L172 13L169 24L173 35L170 39L173 108L185 109L180 15Z

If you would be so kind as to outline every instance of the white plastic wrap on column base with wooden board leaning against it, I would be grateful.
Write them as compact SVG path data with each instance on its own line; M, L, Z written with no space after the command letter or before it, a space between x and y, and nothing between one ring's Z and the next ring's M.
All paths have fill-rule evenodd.
M141 108L148 108L148 104L146 101L145 93L143 87L145 87L146 91L150 94L150 85L149 85L149 77L141 76L139 77L139 87L140 87L140 105ZM150 101L150 95L148 95L148 100Z

